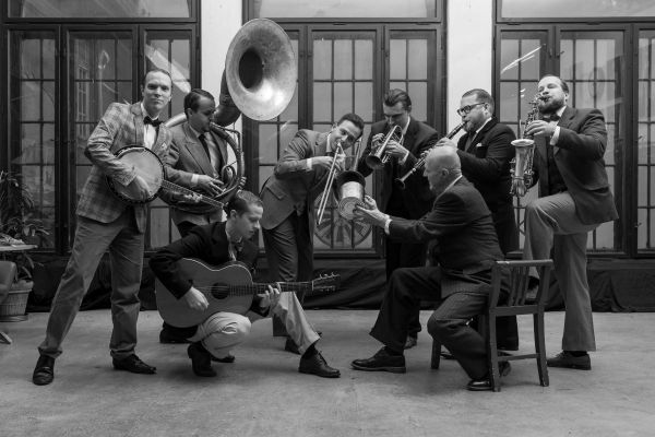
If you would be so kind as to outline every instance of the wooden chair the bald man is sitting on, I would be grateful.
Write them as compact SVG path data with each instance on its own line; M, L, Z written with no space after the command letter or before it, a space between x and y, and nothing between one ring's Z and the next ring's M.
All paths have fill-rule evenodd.
M534 298L527 296L529 285L529 269L536 268L539 274L539 286ZM552 269L552 260L527 261L496 261L491 270L491 293L487 311L478 316L478 327L487 343L487 359L489 376L493 391L500 391L500 373L498 364L515 359L536 358L539 382L547 387L548 368L546 367L546 341L544 338L544 310L546 307L547 288ZM508 298L499 304L501 284L509 286ZM508 355L499 354L496 344L496 318L501 316L533 315L535 353ZM431 368L438 369L441 355L441 344L432 342Z

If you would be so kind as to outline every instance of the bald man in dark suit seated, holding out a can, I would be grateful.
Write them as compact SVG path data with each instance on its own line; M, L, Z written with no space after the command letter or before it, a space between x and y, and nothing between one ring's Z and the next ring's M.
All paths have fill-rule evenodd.
M424 175L436 200L432 210L419 220L383 214L369 197L367 209L356 211L357 220L382 227L390 238L415 243L436 239L438 265L394 271L370 332L384 347L370 358L355 359L352 366L356 370L405 373L407 321L420 300L436 300L440 304L428 320L428 332L468 374L468 390L491 390L485 340L468 326L487 305L491 264L503 258L491 212L479 191L462 176L455 150L430 151ZM501 375L509 371L509 363L502 363Z

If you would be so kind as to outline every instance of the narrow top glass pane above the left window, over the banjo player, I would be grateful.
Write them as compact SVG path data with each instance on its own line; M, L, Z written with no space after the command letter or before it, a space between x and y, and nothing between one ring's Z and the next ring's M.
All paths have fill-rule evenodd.
M20 19L188 19L188 0L10 0L9 16Z

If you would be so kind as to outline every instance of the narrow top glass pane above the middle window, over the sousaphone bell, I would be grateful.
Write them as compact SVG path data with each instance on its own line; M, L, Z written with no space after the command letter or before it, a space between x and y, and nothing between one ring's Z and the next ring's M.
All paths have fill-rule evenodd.
M438 0L255 0L254 17L277 19L410 19L436 17ZM346 15L344 15L346 14Z

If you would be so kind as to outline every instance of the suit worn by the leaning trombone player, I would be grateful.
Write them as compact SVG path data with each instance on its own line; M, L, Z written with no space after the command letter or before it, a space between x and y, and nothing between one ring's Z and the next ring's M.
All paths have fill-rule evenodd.
M260 221L272 281L309 281L313 273L313 203L327 169L310 168L308 158L324 156L327 133L300 130L285 147L260 197Z

